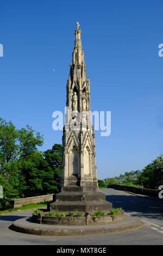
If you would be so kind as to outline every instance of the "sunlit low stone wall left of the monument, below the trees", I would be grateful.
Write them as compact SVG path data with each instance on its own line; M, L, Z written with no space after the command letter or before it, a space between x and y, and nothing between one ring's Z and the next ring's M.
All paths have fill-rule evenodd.
M35 203L46 202L50 200L53 200L53 194L45 194L43 196L37 196L37 197L15 198L11 200L11 207L19 208L26 204L35 204Z

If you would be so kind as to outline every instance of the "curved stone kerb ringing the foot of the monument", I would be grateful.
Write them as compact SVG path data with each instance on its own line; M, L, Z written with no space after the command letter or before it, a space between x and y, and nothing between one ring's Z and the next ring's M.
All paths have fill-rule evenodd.
M111 234L140 228L144 225L143 221L136 217L126 216L123 222L111 223L107 225L93 226L67 226L67 225L48 225L31 222L31 218L21 218L10 226L10 229L33 235L45 236L73 236L73 235L93 235Z

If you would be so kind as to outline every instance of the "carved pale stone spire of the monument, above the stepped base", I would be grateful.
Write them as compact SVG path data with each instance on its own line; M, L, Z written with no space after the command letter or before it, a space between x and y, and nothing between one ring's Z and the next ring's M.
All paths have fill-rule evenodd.
M67 80L68 111L63 135L64 161L61 185L73 183L83 186L89 182L89 185L98 187L95 135L90 112L90 80L86 76L81 34L81 30L77 28L70 75Z

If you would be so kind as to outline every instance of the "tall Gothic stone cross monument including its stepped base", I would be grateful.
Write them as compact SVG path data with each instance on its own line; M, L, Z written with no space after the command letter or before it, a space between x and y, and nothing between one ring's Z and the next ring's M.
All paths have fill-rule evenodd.
M79 22L67 80L67 113L62 136L61 192L49 210L109 212L112 204L99 192L96 175L95 133L90 111L90 80L86 76Z

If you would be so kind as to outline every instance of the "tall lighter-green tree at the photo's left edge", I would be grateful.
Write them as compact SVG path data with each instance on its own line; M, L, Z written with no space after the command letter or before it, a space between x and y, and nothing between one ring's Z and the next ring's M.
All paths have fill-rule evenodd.
M43 137L29 125L16 129L11 121L0 118L0 185L4 192L1 204L7 204L11 198L19 196L18 162L34 153L42 143Z

